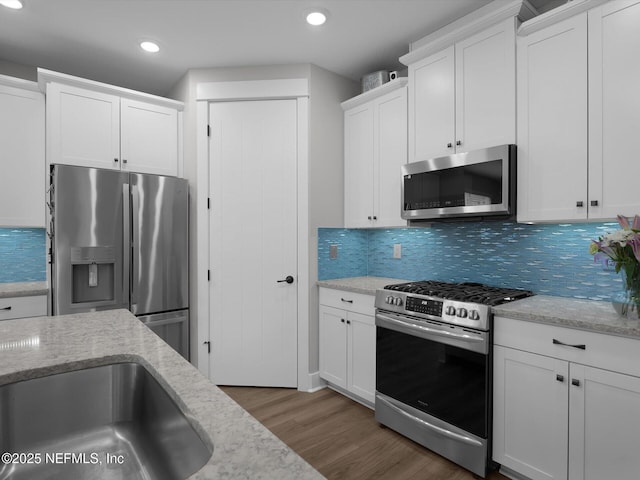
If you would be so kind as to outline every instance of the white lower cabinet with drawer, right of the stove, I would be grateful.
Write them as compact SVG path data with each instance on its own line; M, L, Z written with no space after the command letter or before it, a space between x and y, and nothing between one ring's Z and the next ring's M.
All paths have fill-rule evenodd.
M495 343L493 459L503 473L638 478L640 341L496 318Z

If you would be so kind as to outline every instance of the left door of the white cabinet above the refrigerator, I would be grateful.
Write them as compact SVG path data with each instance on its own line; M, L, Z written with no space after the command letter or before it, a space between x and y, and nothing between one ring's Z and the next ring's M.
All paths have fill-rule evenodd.
M47 84L48 163L120 169L120 97Z

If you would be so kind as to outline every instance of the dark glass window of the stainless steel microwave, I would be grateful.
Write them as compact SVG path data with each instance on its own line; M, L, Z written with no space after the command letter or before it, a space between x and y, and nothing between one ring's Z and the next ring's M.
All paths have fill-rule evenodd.
M502 160L405 175L405 210L501 205Z

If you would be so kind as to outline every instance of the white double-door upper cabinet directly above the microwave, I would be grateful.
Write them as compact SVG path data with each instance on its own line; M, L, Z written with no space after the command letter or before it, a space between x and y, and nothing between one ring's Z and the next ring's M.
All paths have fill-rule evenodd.
M515 28L510 17L408 63L409 161L515 142Z

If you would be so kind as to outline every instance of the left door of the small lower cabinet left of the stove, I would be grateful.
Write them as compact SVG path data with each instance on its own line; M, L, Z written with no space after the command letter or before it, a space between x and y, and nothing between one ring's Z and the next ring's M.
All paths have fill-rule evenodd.
M347 388L347 312L320 305L320 377Z

